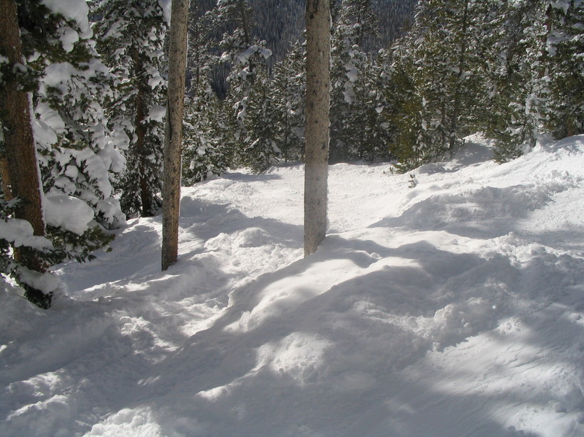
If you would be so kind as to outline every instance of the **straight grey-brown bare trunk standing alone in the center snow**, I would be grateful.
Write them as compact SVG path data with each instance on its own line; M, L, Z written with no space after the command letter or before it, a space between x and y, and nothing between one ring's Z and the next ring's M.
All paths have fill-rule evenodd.
M307 0L306 169L304 256L317 250L327 231L330 106L330 4Z

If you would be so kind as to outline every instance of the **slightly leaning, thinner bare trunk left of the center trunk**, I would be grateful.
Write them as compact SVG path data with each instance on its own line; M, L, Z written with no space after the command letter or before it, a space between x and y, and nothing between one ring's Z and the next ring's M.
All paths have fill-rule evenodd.
M164 140L163 270L167 270L178 258L180 149L183 142L188 7L189 0L173 0L170 16L168 108Z

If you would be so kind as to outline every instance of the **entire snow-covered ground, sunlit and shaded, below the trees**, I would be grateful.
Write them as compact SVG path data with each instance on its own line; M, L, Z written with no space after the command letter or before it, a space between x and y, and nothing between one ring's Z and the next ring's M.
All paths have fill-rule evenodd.
M232 172L168 272L135 219L51 310L3 290L0 435L584 436L584 136L490 155L330 167L305 259L302 166Z

